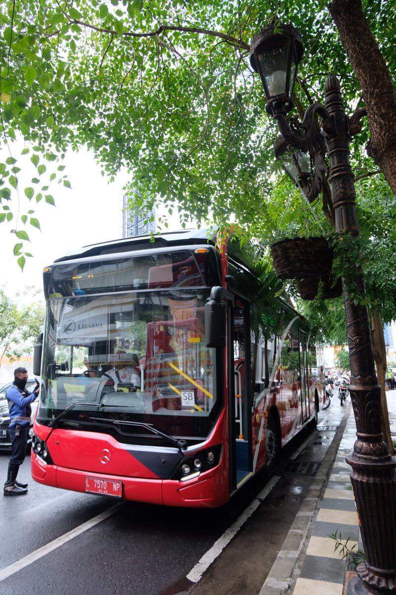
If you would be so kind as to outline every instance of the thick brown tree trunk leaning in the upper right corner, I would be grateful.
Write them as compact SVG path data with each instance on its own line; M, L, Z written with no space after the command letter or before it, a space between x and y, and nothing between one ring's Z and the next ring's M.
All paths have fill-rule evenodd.
M362 87L370 152L396 195L396 98L387 65L370 32L361 0L332 0L328 8Z

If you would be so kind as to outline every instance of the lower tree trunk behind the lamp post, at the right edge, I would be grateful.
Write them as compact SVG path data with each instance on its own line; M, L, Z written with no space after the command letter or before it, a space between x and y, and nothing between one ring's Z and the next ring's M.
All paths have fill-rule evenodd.
M384 325L382 323L381 314L378 311L373 311L371 314L371 338L373 342L373 355L375 359L375 366L377 369L378 382L381 386L381 429L384 434L384 440L388 444L389 452L393 455L393 444L391 437L391 430L389 428L389 414L387 393L385 392L385 374L387 373L387 349L385 347L384 339Z

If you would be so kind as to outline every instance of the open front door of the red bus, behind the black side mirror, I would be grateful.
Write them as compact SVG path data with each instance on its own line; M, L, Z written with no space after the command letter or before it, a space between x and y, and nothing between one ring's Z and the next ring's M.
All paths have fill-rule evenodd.
M251 445L251 345L249 306L237 299L231 312L230 337L230 416L232 416L231 441L233 443L233 486L240 487L252 474Z

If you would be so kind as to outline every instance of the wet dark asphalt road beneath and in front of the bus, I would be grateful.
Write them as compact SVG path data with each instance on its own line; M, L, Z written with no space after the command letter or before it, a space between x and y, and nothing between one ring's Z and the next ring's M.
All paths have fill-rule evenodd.
M258 503L256 496L273 480L259 475L221 509L122 503L102 522L1 580L0 594L178 593L191 585L185 577L198 560L240 515L247 517L246 508L249 513L249 505L255 503L259 504L256 511L195 587L197 595L240 593L242 589L245 595L255 595L312 483L313 471L310 474L307 464L321 461L343 414L338 399L319 414L319 430L312 434L312 443L300 454L297 451L297 456L298 443L285 453L285 461L292 458L294 469L278 469L280 479L264 502ZM300 469L299 463L303 464ZM5 477L7 464L8 456L1 454L1 477ZM0 500L2 569L115 505L113 500L100 496L34 483L28 459L20 477L30 479L28 495Z

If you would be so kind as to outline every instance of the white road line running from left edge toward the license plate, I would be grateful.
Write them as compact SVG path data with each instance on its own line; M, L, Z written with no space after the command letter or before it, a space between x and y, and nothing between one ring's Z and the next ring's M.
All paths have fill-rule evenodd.
M50 541L43 547L39 547L38 550L31 552L27 556L24 556L24 558L17 560L17 562L14 562L13 564L6 566L5 568L2 568L0 570L0 581L4 581L5 578L10 577L12 574L15 574L15 572L18 572L26 566L29 566L33 562L36 562L36 560L43 558L43 556L46 556L47 553L53 552L53 550L55 550L57 547L63 546L71 539L74 539L74 537L77 537L78 535L81 535L81 533L84 533L84 531L87 531L91 527L94 527L94 525L97 525L98 523L105 521L107 518L109 518L109 516L112 516L113 514L118 512L121 506L123 505L124 502L119 502L115 506L112 506L111 508L107 509L107 511L101 512L100 515L94 516L94 518L90 519L89 521L86 521L83 524L78 525L78 527L75 527L71 531L68 531L68 533L61 535L61 537L58 537L53 541Z

